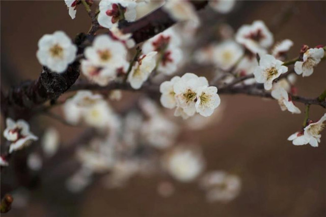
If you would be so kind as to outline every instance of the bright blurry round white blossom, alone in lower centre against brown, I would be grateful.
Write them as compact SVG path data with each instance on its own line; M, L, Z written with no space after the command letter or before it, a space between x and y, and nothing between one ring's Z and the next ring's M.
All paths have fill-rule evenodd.
M196 148L175 147L165 156L164 167L173 178L180 182L191 182L200 175L205 163L201 152Z

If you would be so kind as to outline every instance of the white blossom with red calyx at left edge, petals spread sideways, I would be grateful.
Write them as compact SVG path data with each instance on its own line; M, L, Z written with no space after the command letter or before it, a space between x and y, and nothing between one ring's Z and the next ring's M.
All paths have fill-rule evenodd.
M38 137L30 132L30 125L25 120L19 119L14 122L11 118L7 118L6 126L4 137L11 141L9 153L20 150L32 141L38 140Z

